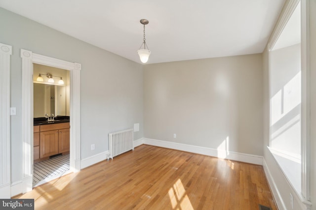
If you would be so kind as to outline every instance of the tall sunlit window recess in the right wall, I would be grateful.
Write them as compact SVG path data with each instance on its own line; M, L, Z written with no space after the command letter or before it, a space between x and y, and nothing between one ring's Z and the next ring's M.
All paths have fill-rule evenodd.
M302 70L301 4L270 50L270 150L293 188L301 193Z

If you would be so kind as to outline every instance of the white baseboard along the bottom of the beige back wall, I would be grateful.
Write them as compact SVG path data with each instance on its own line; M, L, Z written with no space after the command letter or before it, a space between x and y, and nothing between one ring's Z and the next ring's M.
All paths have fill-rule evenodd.
M212 148L199 147L199 146L194 146L194 145L167 142L167 141L161 141L157 139L148 139L148 138L143 138L143 144L163 147L163 148L168 148L168 149L173 149L173 150L188 151L192 153L218 157L221 159L229 159L229 160L235 160L235 161L257 164L257 165L263 164L262 162L263 157L259 155L245 154L245 153L239 153L239 152L234 152L234 151L217 150L217 149L212 149Z

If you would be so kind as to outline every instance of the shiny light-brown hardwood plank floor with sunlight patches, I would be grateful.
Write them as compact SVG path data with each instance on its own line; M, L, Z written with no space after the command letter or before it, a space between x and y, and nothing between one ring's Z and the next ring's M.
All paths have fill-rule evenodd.
M262 166L148 145L15 198L36 210L276 210Z

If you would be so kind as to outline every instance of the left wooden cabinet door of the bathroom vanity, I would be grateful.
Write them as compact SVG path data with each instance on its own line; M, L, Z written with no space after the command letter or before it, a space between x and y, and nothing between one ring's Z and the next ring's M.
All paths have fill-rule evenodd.
M40 132L40 158L58 154L58 130Z

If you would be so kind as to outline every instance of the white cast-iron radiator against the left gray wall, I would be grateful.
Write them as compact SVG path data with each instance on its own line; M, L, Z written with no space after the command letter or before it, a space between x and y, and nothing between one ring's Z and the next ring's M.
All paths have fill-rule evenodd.
M109 133L109 157L118 156L129 150L134 150L134 129Z

